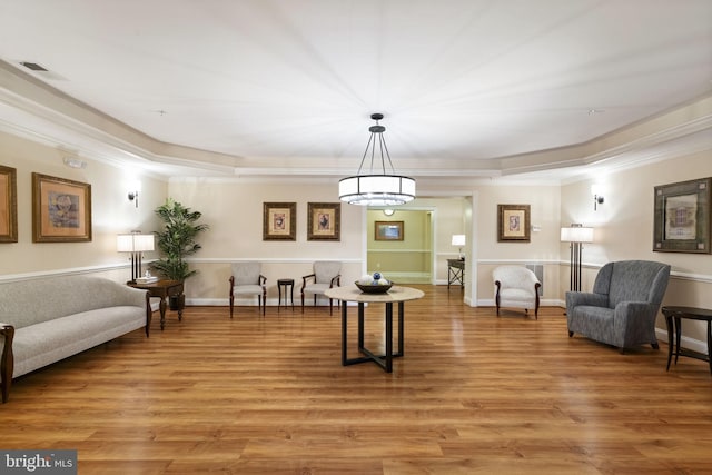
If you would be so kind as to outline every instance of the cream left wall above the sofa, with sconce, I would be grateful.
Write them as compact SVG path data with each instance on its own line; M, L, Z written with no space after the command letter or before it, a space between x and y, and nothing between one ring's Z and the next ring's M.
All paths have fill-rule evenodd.
M85 161L86 168L68 167L66 156ZM4 132L0 132L0 165L17 170L18 185L18 243L0 244L0 278L52 271L105 273L123 281L130 278L127 257L116 250L116 235L156 228L152 210L164 201L167 182ZM32 243L32 172L91 185L91 241ZM135 184L141 188L138 208L128 200Z

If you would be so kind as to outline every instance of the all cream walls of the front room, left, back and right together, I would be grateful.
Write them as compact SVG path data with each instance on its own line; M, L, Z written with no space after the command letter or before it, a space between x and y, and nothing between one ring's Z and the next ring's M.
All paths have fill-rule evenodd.
M372 232L366 209L342 206L340 241L306 239L307 202L337 202L336 180L172 179L166 184L147 175L132 176L129 170L91 157L80 157L88 164L85 169L68 168L62 156L56 148L0 133L0 164L18 170L19 208L19 243L0 245L0 279L81 271L125 280L130 270L126 257L116 253L116 235L131 229L157 229L154 209L168 196L201 211L204 222L210 226L200 237L204 249L191 260L200 271L187 283L187 298L192 304L225 305L229 266L240 259L264 263L269 299L276 299L276 280L283 277L297 280L298 295L300 277L310 271L317 259L342 260L346 283L366 271L367 240ZM32 243L33 171L91 184L91 243ZM596 211L591 180L561 187L475 185L467 196L418 198L411 207L433 212L437 283L447 281L446 259L457 255L457 249L449 245L451 236L463 232L467 236L467 279L472 287L466 287L465 301L473 305L493 304L491 276L495 266L535 263L544 266L544 301L561 305L568 288L568 249L560 243L560 227L582 222L595 228L595 241L584 247L584 290L591 288L599 267L609 260L653 259L673 268L664 304L710 308L712 255L652 251L653 187L708 176L712 176L709 151L597 177L605 202ZM142 184L139 208L126 198L127 184L137 178ZM297 204L296 241L263 241L265 201ZM531 206L532 225L540 229L531 234L531 243L497 243L498 204ZM152 253L146 257L155 256ZM705 340L702 326L689 324L685 337ZM664 327L662 321L659 327Z

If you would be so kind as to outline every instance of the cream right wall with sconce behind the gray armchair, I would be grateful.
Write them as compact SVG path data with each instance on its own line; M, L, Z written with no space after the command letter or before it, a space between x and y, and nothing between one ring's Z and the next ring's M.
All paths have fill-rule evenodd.
M607 261L656 260L672 266L672 278L663 305L712 308L712 255L653 250L654 187L712 176L710 151L685 155L634 169L621 170L595 180L562 187L562 222L581 222L594 228L594 241L584 244L582 289L590 291L599 268ZM605 201L593 208L591 186L596 185ZM567 247L561 244L561 255ZM566 259L567 261L567 259ZM568 287L568 267L563 266ZM562 279L563 280L563 279ZM657 327L665 328L659 316ZM684 321L683 335L706 342L706 326Z

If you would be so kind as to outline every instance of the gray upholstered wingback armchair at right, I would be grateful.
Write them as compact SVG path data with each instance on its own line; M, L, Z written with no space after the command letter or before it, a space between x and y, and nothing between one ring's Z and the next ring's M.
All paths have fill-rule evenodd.
M650 344L659 349L655 319L670 280L670 266L621 260L601 268L593 293L567 291L568 336L575 333L625 348Z

